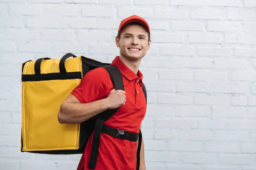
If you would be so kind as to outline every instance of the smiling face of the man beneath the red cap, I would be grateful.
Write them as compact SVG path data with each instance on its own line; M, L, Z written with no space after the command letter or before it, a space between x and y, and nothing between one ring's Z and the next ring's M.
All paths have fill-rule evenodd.
M120 39L116 37L116 46L120 48L120 56L130 61L138 61L143 58L150 47L150 43L148 32L142 26L125 26Z

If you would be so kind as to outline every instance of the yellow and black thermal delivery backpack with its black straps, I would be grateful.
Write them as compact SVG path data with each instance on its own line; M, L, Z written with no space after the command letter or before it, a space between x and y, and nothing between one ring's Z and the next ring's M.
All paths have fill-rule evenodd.
M89 168L95 169L100 134L104 122L119 108L99 113L96 118L80 124L61 124L58 111L61 103L79 85L84 74L97 67L104 67L116 90L124 90L122 74L109 63L102 63L84 56L65 54L61 59L40 58L22 63L21 104L22 129L21 152L43 154L80 154L94 131L93 148ZM146 95L145 85L143 92ZM138 141L137 169L140 164L142 134L130 134L125 130L109 129L109 135L120 139Z

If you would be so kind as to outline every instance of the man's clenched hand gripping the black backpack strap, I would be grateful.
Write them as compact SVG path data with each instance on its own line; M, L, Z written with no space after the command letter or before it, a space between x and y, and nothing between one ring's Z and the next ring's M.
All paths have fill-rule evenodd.
M116 109L126 102L125 91L122 90L111 90L110 94L106 98L108 109Z

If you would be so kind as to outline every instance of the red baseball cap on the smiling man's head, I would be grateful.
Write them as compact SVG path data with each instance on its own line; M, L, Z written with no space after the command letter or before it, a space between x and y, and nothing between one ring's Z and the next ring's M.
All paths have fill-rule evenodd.
M119 33L119 31L124 27L126 26L127 24L129 23L140 23L142 24L149 32L150 34L150 28L148 26L148 23L146 20L144 20L142 17L139 17L137 15L132 15L131 17L128 17L128 18L125 18L121 21L120 25L119 25L119 28L118 28L118 31L117 33Z

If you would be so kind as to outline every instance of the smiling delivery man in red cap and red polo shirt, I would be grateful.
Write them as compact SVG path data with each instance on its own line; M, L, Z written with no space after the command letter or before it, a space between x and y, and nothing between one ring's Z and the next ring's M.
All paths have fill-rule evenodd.
M105 68L89 71L61 104L59 122L81 123L105 110L120 107L104 125L138 134L146 112L142 89L143 74L139 71L139 66L150 43L150 28L143 18L133 15L122 20L116 36L116 46L119 47L120 54L111 65L115 65L122 73L125 91L113 89ZM92 136L93 134L77 170L88 170ZM136 170L137 144L138 142L102 133L95 170ZM140 170L145 170L143 140Z

